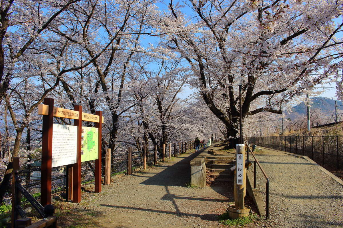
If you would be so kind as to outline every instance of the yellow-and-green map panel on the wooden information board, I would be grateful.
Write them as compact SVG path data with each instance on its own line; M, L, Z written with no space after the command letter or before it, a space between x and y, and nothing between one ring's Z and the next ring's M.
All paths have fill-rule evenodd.
M81 162L98 159L98 129L82 127Z

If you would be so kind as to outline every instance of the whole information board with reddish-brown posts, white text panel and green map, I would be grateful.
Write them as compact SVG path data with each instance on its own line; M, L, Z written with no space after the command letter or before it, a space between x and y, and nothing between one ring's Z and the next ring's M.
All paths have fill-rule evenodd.
M93 115L82 112L80 105L74 110L58 108L54 99L45 98L38 114L43 115L41 204L51 203L52 167L63 165L69 166L67 198L81 202L81 161L95 160L95 192L100 192L102 111ZM54 117L74 119L74 125L53 124ZM96 128L82 127L82 121L95 122Z

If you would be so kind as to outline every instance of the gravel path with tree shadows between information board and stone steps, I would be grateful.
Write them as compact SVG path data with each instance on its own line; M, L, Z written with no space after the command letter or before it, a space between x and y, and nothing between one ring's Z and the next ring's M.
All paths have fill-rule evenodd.
M223 185L186 187L189 161L196 155L185 153L146 171L122 176L103 186L99 195L84 192L80 205L102 212L97 227L225 227L216 220L232 201L226 196L232 197L232 190Z

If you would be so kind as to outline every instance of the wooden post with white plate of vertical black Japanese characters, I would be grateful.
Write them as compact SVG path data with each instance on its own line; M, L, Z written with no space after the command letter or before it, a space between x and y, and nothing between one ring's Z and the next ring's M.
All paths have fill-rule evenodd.
M234 180L234 200L235 208L237 209L244 208L244 196L246 189L246 169L244 152L244 144L236 144L236 174Z

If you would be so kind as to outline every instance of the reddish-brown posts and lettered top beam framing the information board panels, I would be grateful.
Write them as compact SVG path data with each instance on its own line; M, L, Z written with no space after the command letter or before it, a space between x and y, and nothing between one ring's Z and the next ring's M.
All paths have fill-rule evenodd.
M98 159L95 160L95 192L101 191L101 130L104 118L102 111L95 114L82 112L81 105L75 105L74 110L54 107L54 99L45 98L43 104L38 106L38 114L43 115L43 136L42 136L42 174L41 174L41 196L40 202L43 206L51 203L51 161L52 161L52 124L54 117L74 119L74 126L77 130L76 163L71 164L72 178L69 178L68 189L71 192L74 203L81 202L81 133L82 121L95 122L98 128ZM81 117L81 118L80 118ZM99 120L102 120L101 122ZM71 175L70 175L71 177ZM69 194L68 194L69 195ZM69 198L67 196L67 198Z

